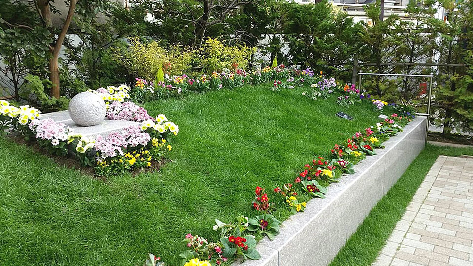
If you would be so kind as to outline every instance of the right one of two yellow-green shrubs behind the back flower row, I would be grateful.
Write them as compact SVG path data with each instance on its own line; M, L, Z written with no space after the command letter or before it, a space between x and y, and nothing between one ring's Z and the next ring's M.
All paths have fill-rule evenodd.
M224 68L246 69L256 48L246 46L225 46L217 39L208 38L200 49L201 65L207 72L221 71Z

